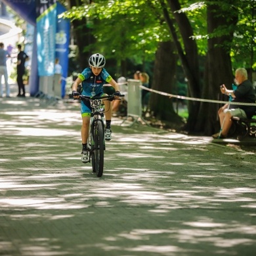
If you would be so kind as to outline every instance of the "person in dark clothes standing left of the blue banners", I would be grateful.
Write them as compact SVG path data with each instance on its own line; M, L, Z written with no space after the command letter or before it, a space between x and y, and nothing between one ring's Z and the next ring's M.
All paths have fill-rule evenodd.
M18 83L18 97L25 97L25 85L23 83L23 75L25 74L25 62L30 59L30 57L22 51L22 46L17 45L18 56L17 56L17 83ZM22 91L22 94L21 94Z

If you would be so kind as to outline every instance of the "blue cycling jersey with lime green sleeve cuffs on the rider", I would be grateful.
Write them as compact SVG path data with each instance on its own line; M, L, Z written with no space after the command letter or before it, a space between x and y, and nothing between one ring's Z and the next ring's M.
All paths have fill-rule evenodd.
M82 80L82 95L95 96L103 93L103 85L112 80L112 77L108 72L102 68L100 74L93 74L91 68L85 68L78 77Z

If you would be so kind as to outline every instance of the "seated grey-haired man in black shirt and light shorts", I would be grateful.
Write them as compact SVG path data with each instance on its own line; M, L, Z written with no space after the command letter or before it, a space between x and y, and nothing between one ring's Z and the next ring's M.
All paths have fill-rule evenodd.
M236 84L238 88L234 90L226 89L225 85L221 86L221 93L232 96L232 102L244 102L255 104L255 92L252 83L247 79L247 71L244 68L236 70ZM230 105L228 107L228 105ZM232 116L240 118L251 118L255 114L256 106L249 105L232 105L225 104L218 111L219 121L221 123L221 132L212 135L214 139L224 139L232 125Z

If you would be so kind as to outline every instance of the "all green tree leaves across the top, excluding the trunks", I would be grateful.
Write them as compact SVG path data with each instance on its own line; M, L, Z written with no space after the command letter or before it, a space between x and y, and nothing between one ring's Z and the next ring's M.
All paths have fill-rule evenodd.
M91 1L90 1L91 2ZM167 1L165 2L167 8ZM207 33L207 5L219 6L220 18L229 18L230 13L238 14L239 20L234 24L236 33L234 41L223 45L232 56L233 66L255 66L255 16L256 2L253 0L204 1L181 0L184 12L194 31L198 54L207 53L207 39L229 35L232 26L219 26L214 33ZM168 9L169 10L169 9ZM217 8L218 10L218 8ZM173 17L169 10L170 17ZM255 14L254 14L255 15ZM100 51L106 58L114 58L117 65L121 60L131 60L135 65L154 61L158 43L171 37L169 28L163 18L160 1L154 0L95 0L84 1L83 5L72 7L62 16L71 20L86 20L85 26L91 29L96 43L85 45L84 51ZM235 16L235 15L234 15ZM174 22L175 24L175 22ZM177 26L177 24L175 24ZM179 28L177 27L179 35ZM182 39L179 37L181 45Z

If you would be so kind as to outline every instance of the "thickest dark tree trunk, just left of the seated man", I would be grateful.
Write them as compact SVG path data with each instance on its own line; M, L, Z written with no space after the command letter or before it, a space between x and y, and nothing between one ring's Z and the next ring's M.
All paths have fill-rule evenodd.
M235 25L236 12L220 10L221 5L207 6L207 33L213 33L219 26ZM219 13L222 13L220 16ZM227 18L229 17L229 18ZM233 26L234 27L234 26ZM232 89L233 75L230 59L230 49L226 43L232 41L233 31L228 35L209 38L207 41L208 51L204 70L204 83L202 98L228 101L228 97L221 94L220 85L224 83L228 89ZM225 43L225 47L223 46ZM211 135L220 129L218 109L222 104L205 103L200 104L195 131Z

